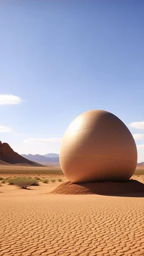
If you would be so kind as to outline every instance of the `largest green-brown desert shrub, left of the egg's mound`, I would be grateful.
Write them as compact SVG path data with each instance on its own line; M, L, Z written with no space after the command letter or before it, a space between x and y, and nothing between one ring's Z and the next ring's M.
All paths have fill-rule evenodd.
M32 179L32 178L17 178L17 179L13 179L13 183L21 188L26 188L29 186L38 186L38 185L34 185L34 184L38 184L36 179ZM33 184L33 185L32 185Z

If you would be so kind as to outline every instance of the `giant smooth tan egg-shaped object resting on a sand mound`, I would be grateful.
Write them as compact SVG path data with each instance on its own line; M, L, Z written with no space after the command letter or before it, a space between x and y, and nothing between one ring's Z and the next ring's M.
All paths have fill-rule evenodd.
M74 183L127 181L137 166L137 148L127 126L114 114L91 110L66 130L60 165Z

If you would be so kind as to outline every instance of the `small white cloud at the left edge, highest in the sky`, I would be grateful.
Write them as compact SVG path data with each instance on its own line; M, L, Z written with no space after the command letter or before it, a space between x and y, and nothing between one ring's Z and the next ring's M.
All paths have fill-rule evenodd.
M21 102L21 98L14 95L0 95L0 105L12 105L19 104Z

